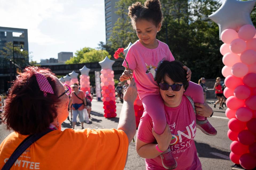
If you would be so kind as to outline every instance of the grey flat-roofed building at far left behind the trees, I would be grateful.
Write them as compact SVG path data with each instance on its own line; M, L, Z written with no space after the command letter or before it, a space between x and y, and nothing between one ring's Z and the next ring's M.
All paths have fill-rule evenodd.
M23 50L29 51L29 44L27 40L27 29L0 27L0 50L3 50L5 43L8 43L8 42L12 42L14 46L22 45ZM29 62L28 57L26 62L27 63ZM3 67L3 56L0 55L0 68L2 67Z

